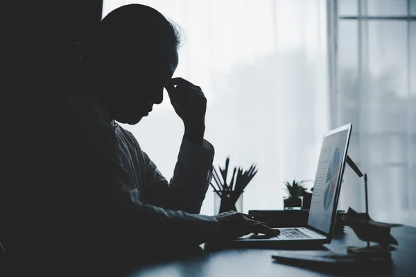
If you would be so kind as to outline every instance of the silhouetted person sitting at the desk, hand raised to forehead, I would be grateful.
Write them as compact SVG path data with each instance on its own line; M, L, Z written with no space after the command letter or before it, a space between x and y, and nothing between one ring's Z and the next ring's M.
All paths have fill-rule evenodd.
M198 215L214 148L204 139L202 89L172 78L179 43L173 24L139 4L110 12L87 37L75 73L62 78L50 102L49 123L58 129L48 138L55 145L49 170L55 195L44 197L42 223L52 229L42 238L59 243L49 243L49 251L150 255L252 232L277 235L250 215ZM139 123L162 103L164 88L184 122L170 181L116 123Z

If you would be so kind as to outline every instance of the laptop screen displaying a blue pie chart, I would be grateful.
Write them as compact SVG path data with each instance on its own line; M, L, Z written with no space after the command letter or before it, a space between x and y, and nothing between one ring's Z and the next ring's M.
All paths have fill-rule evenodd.
M308 226L331 233L331 220L336 216L351 125L334 129L324 135L316 170Z

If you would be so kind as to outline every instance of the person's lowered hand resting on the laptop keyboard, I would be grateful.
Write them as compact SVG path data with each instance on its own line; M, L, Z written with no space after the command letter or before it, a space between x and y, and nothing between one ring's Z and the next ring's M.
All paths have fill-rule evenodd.
M263 233L270 237L279 235L279 230L270 229L266 224L252 220L251 215L229 211L214 215L220 222L220 239L231 240L250 233Z

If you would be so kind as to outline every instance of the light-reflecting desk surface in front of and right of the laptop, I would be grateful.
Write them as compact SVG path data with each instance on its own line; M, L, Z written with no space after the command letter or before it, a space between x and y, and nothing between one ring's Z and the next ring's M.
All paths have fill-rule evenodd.
M399 242L392 252L393 267L390 271L367 272L361 276L415 276L416 273L416 228L401 226L392 229L392 235ZM365 246L356 237L354 231L345 227L345 233L334 238L327 248L333 251L345 251L345 246ZM290 265L279 264L271 258L275 250L270 249L227 249L206 253L198 258L187 258L133 269L126 277L268 277L268 276L360 276L358 274L327 273L313 271Z

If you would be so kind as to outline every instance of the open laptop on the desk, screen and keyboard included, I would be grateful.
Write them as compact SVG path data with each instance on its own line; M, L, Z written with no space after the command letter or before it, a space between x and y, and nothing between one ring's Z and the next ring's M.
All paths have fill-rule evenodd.
M306 226L279 229L280 235L245 235L221 242L222 247L295 247L331 242L352 124L324 134Z

